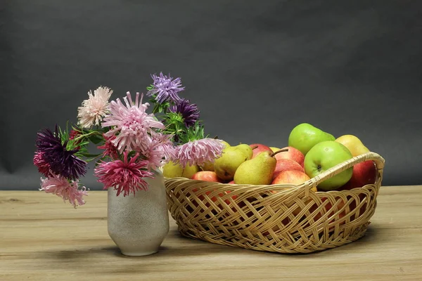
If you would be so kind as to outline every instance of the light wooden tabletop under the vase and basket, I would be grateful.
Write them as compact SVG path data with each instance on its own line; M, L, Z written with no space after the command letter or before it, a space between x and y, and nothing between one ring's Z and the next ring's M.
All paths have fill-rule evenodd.
M182 237L122 256L107 192L73 209L41 191L0 191L0 280L422 280L422 185L383 187L366 236L313 254L274 254Z

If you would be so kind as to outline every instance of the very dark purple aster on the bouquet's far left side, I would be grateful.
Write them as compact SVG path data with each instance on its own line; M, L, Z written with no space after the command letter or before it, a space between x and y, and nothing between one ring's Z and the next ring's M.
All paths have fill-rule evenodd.
M56 133L45 129L37 135L37 152L42 153L53 174L76 180L87 172L87 162L74 155L78 150L67 150L68 141L62 144L57 126Z

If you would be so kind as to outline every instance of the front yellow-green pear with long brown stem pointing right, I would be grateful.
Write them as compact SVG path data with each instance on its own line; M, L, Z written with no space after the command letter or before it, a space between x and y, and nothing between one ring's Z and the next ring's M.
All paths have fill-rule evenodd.
M241 164L234 174L234 183L251 185L271 184L277 160L276 152L260 152L254 158Z

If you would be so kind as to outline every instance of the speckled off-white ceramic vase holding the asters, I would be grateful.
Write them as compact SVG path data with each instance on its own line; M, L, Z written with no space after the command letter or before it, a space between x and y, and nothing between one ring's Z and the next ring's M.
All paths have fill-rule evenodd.
M154 254L169 232L165 182L161 171L144 178L148 190L123 196L108 188L108 235L125 256Z

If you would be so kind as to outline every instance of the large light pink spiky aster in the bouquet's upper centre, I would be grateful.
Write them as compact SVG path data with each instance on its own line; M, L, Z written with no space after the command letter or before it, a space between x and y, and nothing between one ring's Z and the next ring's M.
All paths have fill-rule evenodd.
M159 122L153 114L148 115L146 109L148 103L142 103L143 95L139 100L139 93L136 93L135 103L127 92L124 103L117 98L110 103L110 115L104 118L103 127L110 126L112 129L104 136L116 135L113 144L122 153L124 150L146 150L151 143L153 129L164 129L165 126Z

